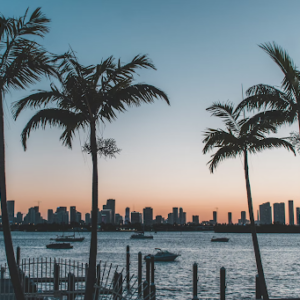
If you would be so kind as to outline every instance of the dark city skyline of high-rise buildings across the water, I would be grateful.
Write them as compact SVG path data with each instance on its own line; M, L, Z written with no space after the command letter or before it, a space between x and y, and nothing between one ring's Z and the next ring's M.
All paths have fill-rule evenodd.
M168 218L164 219L161 215L153 216L153 208L145 207L143 213L132 211L130 208L125 209L125 218L120 214L115 212L116 200L108 199L106 204L103 205L102 210L98 209L98 224L137 224L141 223L145 226L151 226L153 224L186 224L186 212L183 211L182 207L173 207L172 212L168 214ZM67 207L60 206L57 207L54 212L53 209L48 209L47 220L43 219L41 213L39 212L39 206L30 207L28 213L24 216L18 212L15 215L15 201L7 201L8 217L11 224L91 224L91 214L86 213L83 220L82 215L76 210L76 206L70 206L70 211ZM288 213L289 213L289 224L295 225L295 214L296 214L296 224L300 225L300 208L296 207L294 214L294 201L288 201ZM209 221L203 221L201 224L214 225L218 223L217 211L213 211L213 218ZM257 211L256 224L286 224L285 220L285 203L274 203L273 204L273 218L272 218L272 207L270 202L263 203L259 205L259 210ZM199 215L192 216L192 223L195 225L200 224ZM249 220L246 219L246 211L241 211L241 218L238 219L238 225L249 224ZM228 224L232 223L232 212L228 212Z

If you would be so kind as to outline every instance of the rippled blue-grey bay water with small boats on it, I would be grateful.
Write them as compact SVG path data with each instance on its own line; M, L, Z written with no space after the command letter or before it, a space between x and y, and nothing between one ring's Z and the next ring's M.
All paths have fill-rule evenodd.
M12 232L21 258L56 257L88 262L90 234L70 250L46 249L56 233ZM137 274L137 253L162 248L179 252L175 262L156 263L158 299L192 299L192 265L198 263L198 291L201 299L219 298L220 268L226 268L226 299L254 299L255 258L250 234L226 234L228 243L211 243L212 232L158 232L153 240L131 240L128 232L99 232L98 259L125 267L126 246L130 246L131 273ZM300 296L300 235L259 234L263 266L272 298ZM0 236L0 264L5 263L3 235Z

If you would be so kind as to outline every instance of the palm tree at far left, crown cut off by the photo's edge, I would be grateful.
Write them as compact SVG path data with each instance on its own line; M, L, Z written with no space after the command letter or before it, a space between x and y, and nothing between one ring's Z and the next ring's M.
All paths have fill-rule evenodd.
M41 75L52 73L46 51L27 36L43 37L50 22L37 8L27 20L28 9L19 19L0 15L0 199L5 251L17 300L23 300L15 261L6 203L4 112L3 101L12 89L24 89Z

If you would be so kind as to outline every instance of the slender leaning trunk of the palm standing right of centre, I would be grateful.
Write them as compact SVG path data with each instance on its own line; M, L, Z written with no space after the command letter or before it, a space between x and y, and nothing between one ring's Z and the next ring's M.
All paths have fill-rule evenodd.
M263 299L268 300L269 299L268 290L267 290L264 270L261 262L256 228L254 223L252 195L251 195L251 187L250 187L249 171L248 171L248 154L246 150L244 151L244 169L245 169L246 190L247 190L247 200L248 200L248 208L249 208L249 216L250 216L250 224L251 224L252 242L253 242L254 254L256 259L256 267L259 276L259 284L263 294Z

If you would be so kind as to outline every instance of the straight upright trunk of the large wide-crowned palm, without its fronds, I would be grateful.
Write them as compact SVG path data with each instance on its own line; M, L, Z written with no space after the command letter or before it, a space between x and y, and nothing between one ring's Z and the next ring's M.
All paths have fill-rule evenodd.
M92 179L92 233L90 244L89 270L85 286L85 300L93 299L94 284L96 281L96 260L97 260L97 225L98 225L98 160L97 160L97 141L96 124L91 122L90 135L91 154L93 162Z

